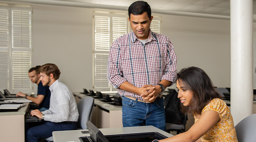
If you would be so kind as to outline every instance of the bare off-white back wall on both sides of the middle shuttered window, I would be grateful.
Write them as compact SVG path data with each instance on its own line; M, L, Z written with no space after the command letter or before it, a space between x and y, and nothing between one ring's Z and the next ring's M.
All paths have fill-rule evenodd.
M93 89L93 10L33 6L33 66L58 65L60 80L73 92ZM174 45L178 71L201 67L215 86L230 87L230 20L161 15L162 33Z

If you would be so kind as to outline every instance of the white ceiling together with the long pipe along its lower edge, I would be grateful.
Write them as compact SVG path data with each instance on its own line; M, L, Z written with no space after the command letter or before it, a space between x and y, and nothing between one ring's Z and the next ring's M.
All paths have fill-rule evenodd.
M6 1L6 0L0 0ZM18 3L38 3L62 6L127 10L136 0L7 0ZM152 12L186 12L230 16L230 0L145 0ZM243 0L241 0L243 1ZM256 18L256 0L253 0L253 16Z

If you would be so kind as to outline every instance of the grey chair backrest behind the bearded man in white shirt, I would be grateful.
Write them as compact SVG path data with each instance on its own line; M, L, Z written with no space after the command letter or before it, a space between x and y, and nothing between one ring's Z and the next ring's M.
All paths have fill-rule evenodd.
M83 98L78 104L79 119L77 127L87 129L86 122L90 119L93 110L94 99L92 97Z

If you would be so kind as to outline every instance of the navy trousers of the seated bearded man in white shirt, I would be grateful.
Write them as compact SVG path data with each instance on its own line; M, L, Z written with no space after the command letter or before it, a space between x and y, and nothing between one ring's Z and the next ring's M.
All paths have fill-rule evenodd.
M29 128L26 132L26 141L27 142L38 142L40 139L46 139L52 136L53 131L58 130L75 130L76 123L68 122L46 122L43 125L35 126Z

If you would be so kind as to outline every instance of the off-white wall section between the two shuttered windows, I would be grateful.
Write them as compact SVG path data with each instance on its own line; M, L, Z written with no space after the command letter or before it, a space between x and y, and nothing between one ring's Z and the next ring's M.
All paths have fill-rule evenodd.
M93 88L92 18L92 9L33 6L33 66L56 64L73 92Z

